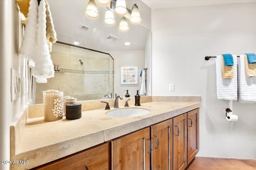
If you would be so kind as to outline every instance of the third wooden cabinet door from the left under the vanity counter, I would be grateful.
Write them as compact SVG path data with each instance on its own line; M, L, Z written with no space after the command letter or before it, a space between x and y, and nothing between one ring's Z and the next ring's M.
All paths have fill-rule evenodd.
M173 118L174 170L184 170L187 164L187 114Z

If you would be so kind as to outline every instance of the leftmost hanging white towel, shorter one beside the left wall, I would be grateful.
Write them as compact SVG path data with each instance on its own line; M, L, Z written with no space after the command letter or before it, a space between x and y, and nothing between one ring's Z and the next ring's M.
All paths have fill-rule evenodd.
M19 55L29 61L36 61L37 0L30 1L28 11L28 22Z

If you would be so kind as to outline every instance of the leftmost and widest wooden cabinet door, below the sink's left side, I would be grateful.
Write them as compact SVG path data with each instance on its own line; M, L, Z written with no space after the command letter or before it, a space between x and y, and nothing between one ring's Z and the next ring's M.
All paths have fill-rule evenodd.
M150 128L114 139L112 143L112 170L150 169Z

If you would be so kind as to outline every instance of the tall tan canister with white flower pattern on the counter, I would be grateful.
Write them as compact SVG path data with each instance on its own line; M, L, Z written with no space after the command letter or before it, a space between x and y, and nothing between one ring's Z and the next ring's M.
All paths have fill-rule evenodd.
M43 92L44 121L56 121L63 115L63 92L47 90Z

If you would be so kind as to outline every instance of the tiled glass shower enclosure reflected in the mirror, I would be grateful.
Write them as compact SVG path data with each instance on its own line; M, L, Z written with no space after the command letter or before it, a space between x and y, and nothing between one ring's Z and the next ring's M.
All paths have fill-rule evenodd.
M54 89L82 100L103 99L114 93L114 59L110 54L66 43L54 43L51 58L58 66L47 83L34 83L35 104L42 102L42 91Z

